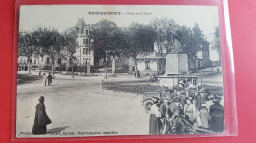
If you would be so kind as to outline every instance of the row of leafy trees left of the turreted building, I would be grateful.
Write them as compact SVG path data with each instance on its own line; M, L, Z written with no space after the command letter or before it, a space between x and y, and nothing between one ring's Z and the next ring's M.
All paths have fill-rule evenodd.
M71 30L60 34L55 29L37 28L32 32L20 32L18 37L18 57L27 57L28 71L31 73L30 61L32 56L37 59L41 72L43 58L50 57L52 73L54 75L57 57L71 59L73 67L74 53L76 52L77 35ZM74 74L73 74L74 76Z

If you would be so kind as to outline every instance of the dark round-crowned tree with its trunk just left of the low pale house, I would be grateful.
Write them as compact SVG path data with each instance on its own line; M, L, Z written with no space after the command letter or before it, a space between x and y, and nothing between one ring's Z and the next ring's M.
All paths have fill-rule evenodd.
M133 23L129 26L126 37L129 47L125 49L124 53L133 59L136 77L138 77L137 57L153 51L156 32L149 25Z

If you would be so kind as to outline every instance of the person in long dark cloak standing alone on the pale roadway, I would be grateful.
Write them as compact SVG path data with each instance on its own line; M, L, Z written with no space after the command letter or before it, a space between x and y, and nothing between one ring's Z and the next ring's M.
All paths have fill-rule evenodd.
M34 118L34 124L32 127L32 134L46 134L47 127L46 125L51 123L51 119L46 114L46 108L44 105L44 97L41 96L39 98L39 102L36 105L36 112Z

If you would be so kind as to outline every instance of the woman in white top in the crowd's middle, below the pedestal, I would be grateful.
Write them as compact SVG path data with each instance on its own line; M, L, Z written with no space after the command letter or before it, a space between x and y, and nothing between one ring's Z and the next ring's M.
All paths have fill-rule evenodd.
M184 113L188 116L189 120L194 122L196 119L196 106L192 103L192 98L187 98L187 104L184 106Z

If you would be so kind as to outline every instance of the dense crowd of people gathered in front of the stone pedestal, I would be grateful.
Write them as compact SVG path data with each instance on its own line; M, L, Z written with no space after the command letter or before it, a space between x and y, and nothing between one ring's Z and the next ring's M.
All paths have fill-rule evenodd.
M187 134L199 128L224 132L224 106L218 95L204 90L179 92L174 89L161 100L153 97L150 107L149 134ZM194 132L196 133L196 132Z

